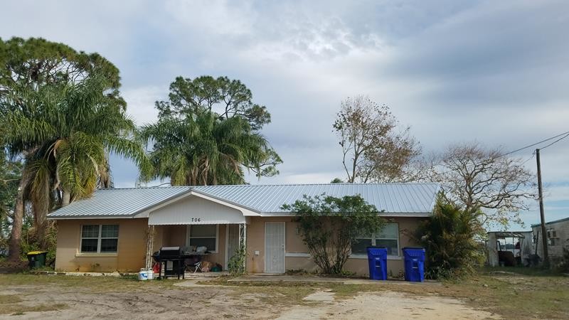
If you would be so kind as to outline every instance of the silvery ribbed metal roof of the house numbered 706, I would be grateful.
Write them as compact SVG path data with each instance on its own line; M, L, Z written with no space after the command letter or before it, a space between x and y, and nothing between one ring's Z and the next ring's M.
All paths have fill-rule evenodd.
M255 210L263 215L282 213L281 206L302 196L362 196L385 213L428 214L439 191L438 183L329 183L235 186L111 188L55 210L49 218L132 216L191 191Z

